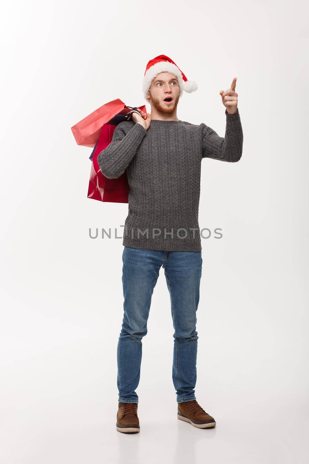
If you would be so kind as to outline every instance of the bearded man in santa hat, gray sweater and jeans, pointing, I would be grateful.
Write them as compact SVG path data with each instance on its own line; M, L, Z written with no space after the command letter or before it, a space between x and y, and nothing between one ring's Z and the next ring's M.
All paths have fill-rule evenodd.
M130 185L123 237L122 283L124 317L117 347L119 390L116 428L139 432L137 414L142 338L147 334L151 296L164 268L175 332L172 380L177 418L198 428L216 422L195 397L196 310L202 275L198 224L201 161L236 162L242 155L243 133L235 92L221 90L226 133L219 137L206 124L177 118L183 90L197 89L167 56L146 67L143 92L151 113L139 110L133 121L121 122L112 142L98 156L102 173L117 178L126 170ZM154 392L155 394L155 392Z

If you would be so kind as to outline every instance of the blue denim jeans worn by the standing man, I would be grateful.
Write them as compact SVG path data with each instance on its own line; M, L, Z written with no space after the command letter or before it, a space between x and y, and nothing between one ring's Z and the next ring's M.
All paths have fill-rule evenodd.
M138 403L142 338L161 266L170 292L175 332L172 379L177 403L196 400L196 310L200 299L202 251L153 251L124 247L124 317L117 346L117 386L121 403Z

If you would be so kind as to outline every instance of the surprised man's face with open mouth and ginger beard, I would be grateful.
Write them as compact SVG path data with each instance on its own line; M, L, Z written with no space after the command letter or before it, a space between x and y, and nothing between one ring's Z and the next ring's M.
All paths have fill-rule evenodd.
M177 108L179 100L179 85L177 77L169 72L160 72L153 81L149 89L149 103L151 106L163 114L172 114ZM170 97L171 102L164 99Z

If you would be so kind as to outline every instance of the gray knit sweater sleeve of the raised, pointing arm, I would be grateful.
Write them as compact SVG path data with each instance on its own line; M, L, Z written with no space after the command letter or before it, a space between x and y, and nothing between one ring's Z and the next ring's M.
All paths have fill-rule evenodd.
M225 137L219 135L210 127L202 122L202 158L212 158L214 160L236 162L242 155L243 132L240 122L240 114L237 111L233 115L227 116Z

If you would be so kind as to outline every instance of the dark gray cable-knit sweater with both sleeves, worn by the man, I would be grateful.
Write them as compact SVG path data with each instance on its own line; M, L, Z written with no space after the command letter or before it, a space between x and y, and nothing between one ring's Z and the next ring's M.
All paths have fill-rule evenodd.
M225 137L203 122L151 120L148 130L120 122L98 155L102 174L130 186L124 246L162 251L201 251L198 209L202 158L239 161L243 132L239 110L226 114Z

